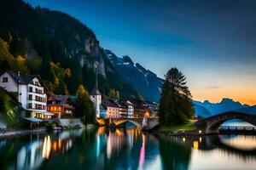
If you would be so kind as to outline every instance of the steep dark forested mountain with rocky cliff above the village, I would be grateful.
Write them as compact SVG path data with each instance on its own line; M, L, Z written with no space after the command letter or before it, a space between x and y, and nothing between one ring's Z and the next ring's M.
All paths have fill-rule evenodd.
M21 0L3 0L0 11L0 71L39 74L54 94L76 94L80 84L90 91L97 72L102 94L115 89L121 99L138 98L79 20Z

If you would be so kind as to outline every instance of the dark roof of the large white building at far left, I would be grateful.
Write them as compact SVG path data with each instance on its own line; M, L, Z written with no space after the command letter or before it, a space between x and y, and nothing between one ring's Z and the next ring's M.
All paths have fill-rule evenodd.
M28 84L34 78L38 78L41 81L41 78L39 77L39 75L20 75L19 76L18 73L14 72L14 71L3 71L1 73L1 76L5 72L7 72L14 79L15 82L19 82L20 84Z

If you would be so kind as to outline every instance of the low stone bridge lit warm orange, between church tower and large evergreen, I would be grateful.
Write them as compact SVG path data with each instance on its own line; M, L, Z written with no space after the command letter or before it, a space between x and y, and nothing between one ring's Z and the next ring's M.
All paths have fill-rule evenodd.
M109 119L110 125L119 126L125 122L131 122L138 128L142 130L152 130L154 127L159 125L158 118L150 118L150 117L143 117L143 118L111 118Z

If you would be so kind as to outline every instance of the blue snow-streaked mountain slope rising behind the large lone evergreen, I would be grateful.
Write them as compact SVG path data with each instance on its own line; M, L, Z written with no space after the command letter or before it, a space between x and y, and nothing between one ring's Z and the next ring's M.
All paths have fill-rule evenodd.
M144 99L158 102L164 80L157 77L154 72L145 69L142 65L134 63L125 55L118 57L112 51L105 49L105 54L121 77L124 77L131 87L142 94Z

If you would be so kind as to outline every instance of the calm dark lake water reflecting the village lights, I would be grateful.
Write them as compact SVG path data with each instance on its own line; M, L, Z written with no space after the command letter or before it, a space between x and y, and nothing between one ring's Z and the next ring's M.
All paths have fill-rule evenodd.
M255 169L255 136L167 137L105 127L0 139L0 169Z

